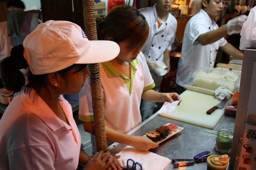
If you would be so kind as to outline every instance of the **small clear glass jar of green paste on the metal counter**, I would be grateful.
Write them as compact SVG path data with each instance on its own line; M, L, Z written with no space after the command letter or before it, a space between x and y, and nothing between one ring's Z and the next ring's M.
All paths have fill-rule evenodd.
M233 141L232 132L226 129L218 130L215 149L221 153L229 153L231 152L232 141Z

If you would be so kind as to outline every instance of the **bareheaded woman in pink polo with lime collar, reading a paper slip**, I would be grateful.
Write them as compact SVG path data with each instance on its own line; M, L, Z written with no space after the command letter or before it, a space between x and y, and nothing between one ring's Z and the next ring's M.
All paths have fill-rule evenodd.
M140 49L149 33L146 18L129 5L113 8L105 20L98 19L99 40L116 42L120 53L111 61L100 63L100 79L105 118L107 143L127 144L141 151L158 147L145 136L127 135L141 123L140 100L152 102L173 102L180 100L177 93L160 93L152 90L155 86L144 55ZM88 77L89 79L89 77ZM94 120L89 81L79 93L78 118L84 122L84 129L90 132L92 149L96 152Z

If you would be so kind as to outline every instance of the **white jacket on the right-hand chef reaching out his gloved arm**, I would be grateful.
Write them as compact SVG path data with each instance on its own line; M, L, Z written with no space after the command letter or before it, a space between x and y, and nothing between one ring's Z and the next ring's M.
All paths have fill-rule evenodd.
M219 28L215 20L201 9L195 16L189 19L182 43L181 57L178 63L176 83L182 87L193 85L192 74L201 67L212 67L216 59L219 46L224 46L227 41L224 38L208 44L201 45L197 38L199 35Z

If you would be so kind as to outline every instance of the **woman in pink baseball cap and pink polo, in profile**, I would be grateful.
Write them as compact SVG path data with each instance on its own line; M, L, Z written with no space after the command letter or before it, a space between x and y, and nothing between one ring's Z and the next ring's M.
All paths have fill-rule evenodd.
M101 48L99 49L98 46ZM1 78L15 96L0 120L0 169L118 169L110 153L89 157L70 104L62 94L80 92L90 75L87 63L115 58L119 46L89 41L68 21L47 21L12 48L0 65ZM27 69L25 76L19 69Z

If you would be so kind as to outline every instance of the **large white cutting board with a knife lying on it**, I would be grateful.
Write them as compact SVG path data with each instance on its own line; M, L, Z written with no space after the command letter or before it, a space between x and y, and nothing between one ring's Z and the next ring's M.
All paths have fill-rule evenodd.
M186 90L180 94L180 98L182 101L173 113L159 113L159 115L214 129L224 114L225 108L216 109L211 115L206 114L207 110L220 103L212 95Z

